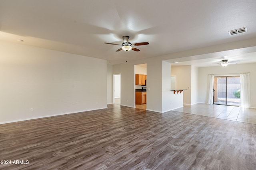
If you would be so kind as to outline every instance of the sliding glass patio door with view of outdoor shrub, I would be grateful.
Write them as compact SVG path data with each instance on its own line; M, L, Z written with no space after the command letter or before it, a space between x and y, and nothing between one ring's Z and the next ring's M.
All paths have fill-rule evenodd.
M240 76L214 77L213 104L240 105Z

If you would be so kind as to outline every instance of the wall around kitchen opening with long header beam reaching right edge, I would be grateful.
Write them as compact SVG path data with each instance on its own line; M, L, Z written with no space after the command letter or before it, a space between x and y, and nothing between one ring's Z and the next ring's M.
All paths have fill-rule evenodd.
M171 54L157 56L157 57L148 58L148 59L128 61L127 63L114 65L113 74L118 74L118 73L122 74L122 80L121 80L122 81L121 82L122 105L135 107L134 106L134 103L135 103L134 102L135 101L134 65L147 63L147 109L162 112L162 94L161 94L162 61L170 60L170 59L178 59L178 58L183 58L183 59L189 58L189 59L196 60L196 59L204 59L207 57L211 58L214 56L220 56L221 54L232 55L234 54L234 51L231 51L233 49L237 49L235 50L236 55L241 53L255 52L256 38L242 40L242 41L235 41L232 43L224 43L224 44L219 44L219 45L214 45L209 47L203 47L200 49L181 51L177 53L171 53ZM122 52L120 54L122 54ZM173 69L173 67L171 69ZM183 77L183 79L185 78L186 77ZM190 80L191 80L191 68L190 68ZM199 82L199 86L200 86L200 82ZM188 87L191 88L191 82L184 85L184 88L188 88ZM186 91L183 91L183 92L184 94L186 93ZM201 92L201 89L200 89L200 92ZM190 100L191 100L191 96L190 96Z

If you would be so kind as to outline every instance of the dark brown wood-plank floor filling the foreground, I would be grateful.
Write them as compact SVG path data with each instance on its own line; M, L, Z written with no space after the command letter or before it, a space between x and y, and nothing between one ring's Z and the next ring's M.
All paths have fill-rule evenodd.
M116 104L0 125L0 169L256 169L256 125Z

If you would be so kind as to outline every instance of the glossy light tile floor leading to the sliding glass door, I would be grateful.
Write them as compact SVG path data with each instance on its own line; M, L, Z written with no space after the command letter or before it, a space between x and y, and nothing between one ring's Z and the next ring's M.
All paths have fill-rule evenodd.
M254 108L245 109L236 106L195 104L174 109L173 111L256 124L256 109Z

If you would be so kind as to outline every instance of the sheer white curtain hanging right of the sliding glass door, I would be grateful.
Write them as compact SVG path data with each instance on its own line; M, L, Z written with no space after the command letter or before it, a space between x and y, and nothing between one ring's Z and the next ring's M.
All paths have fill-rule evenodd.
M240 74L240 107L250 108L250 74Z

